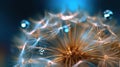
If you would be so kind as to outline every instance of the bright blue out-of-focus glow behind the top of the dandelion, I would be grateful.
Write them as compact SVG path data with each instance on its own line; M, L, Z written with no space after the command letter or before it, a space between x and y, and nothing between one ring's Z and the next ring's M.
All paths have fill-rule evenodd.
M52 11L69 10L74 12L78 9L86 10L88 12L94 11L94 0L49 0L46 1L46 7Z

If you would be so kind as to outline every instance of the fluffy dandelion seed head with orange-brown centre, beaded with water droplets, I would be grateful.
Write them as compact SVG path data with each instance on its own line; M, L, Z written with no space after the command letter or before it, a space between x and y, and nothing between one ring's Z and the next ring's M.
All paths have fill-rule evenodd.
M113 15L111 11L104 12L104 18L110 15ZM48 13L39 21L32 20L32 28L22 30L25 43L19 43L21 52L16 65L77 67L85 62L89 67L117 66L119 38L113 32L114 27L104 20L83 12ZM24 20L21 27L26 26L29 24Z

